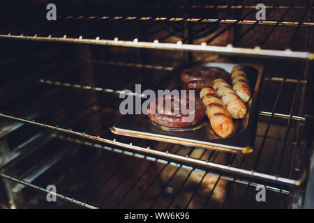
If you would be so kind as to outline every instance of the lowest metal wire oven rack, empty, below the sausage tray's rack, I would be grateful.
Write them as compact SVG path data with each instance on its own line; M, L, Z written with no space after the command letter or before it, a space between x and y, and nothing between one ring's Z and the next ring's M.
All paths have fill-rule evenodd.
M63 138L62 135L54 135L54 137ZM110 146L103 146L71 138L67 138L67 140L72 141L74 146L84 144L85 147L92 146L96 148L96 150L91 151L88 148L80 148L81 151L84 151L84 153L79 153L83 157L71 157L70 160L70 156L63 157L63 160L52 168L51 171L54 174L51 175L50 172L47 172L45 176L40 177L40 179L36 180L34 183L29 183L27 180L12 176L10 174L10 168L7 168L5 171L8 172L8 174L1 173L1 177L30 187L31 189L39 190L45 194L50 192L47 191L45 187L49 184L54 184L57 187L57 192L53 192L53 194L55 194L58 199L63 199L84 208L139 208L143 205L147 205L147 197L150 201L150 208L176 208L176 206L172 206L172 204L178 199L179 193L184 185L190 184L188 180L195 178L195 174L197 174L198 177L196 177L195 182L193 180L193 189L187 194L184 193L186 200L185 203L181 203L179 208L195 208L197 206L199 208L202 206L204 208L211 208L213 206L211 206L211 202L209 201L215 201L217 199L216 193L220 193L218 190L225 189L222 186L217 186L218 183L225 186L225 180L233 180L223 175L213 177L207 171L177 164L175 162L169 162L167 160L147 157L146 155L129 153L128 151L118 150ZM60 142L60 144L62 144L62 142ZM164 149L170 151L175 150L176 148L174 147L174 145L164 145ZM101 154L96 153L99 148L104 149ZM87 153L87 151L89 153ZM204 155L204 152L200 154L200 156L202 155ZM215 159L214 152L212 152L211 158ZM28 160L28 158L26 160ZM91 167L89 160L95 160L98 163L97 167ZM100 160L105 160L105 162L99 162ZM116 171L110 171L110 169L116 168L117 165L120 167L119 171L117 171L117 169ZM128 166L127 170L125 168L126 166ZM139 174L135 174L137 167L144 167L144 169L140 171ZM65 173L64 169L68 169L69 171ZM124 174L119 176L121 171L124 171ZM154 174L152 174L151 171L153 171ZM180 174L180 171L187 173L187 175L184 174L184 176L181 176L182 173ZM55 178L55 176L58 175L61 177ZM80 177L77 178L77 175L80 175ZM47 177L49 180L47 180ZM160 178L165 178L165 183L162 185L158 183ZM175 180L175 178L179 178L180 180ZM206 182L204 180L205 178ZM214 185L207 185L208 178L213 178ZM236 182L248 185L248 181L237 179ZM77 185L80 186L77 188ZM260 186L255 183L251 183L250 185L253 186L252 188ZM135 187L139 186L143 187L140 194L135 193ZM154 193L156 187L159 191L157 194ZM170 197L167 198L167 190L169 190L170 187L177 189L174 194L168 195ZM267 186L267 190L269 193L276 194L279 192L276 188L270 186ZM200 197L197 193L200 192L207 194L207 196L203 197L201 201L198 201L197 199L200 199ZM98 196L96 196L97 194ZM287 197L289 191L282 190L281 194L283 194L283 197ZM119 199L117 199L117 196ZM74 197L77 198L75 199ZM98 197L100 197L100 199L97 199ZM113 199L112 197L115 198ZM152 199L152 197L154 199ZM114 203L112 203L112 199ZM123 202L124 199L126 199L126 202ZM195 202L197 203L193 203L193 199L196 199ZM228 201L232 200L227 197L225 197L225 199ZM175 203L178 205L177 202ZM223 202L220 201L220 205L221 204L223 204ZM280 204L280 206L282 205L283 203ZM216 208L219 208L219 206L216 206Z

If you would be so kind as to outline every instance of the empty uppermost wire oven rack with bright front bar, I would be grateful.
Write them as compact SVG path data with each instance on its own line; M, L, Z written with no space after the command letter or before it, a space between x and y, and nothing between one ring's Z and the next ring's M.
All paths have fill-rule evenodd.
M112 10L113 13L105 12L101 15L82 15L82 13L73 13L70 15L58 15L56 22L45 21L45 15L38 15L36 19L31 19L29 23L20 24L17 22L16 27L8 27L0 31L0 38L14 39L14 40L33 40L44 42L57 43L80 43L89 45L108 45L116 47L133 47L140 49L166 49L166 50L180 50L188 52L204 52L213 54L223 54L230 56L253 56L253 57L270 57L281 59L299 59L299 60L313 60L313 46L309 49L294 49L293 43L297 38L297 33L301 29L308 29L309 35L312 35L312 28L314 22L313 6L267 6L267 17L271 14L281 12L281 17L274 20L257 21L255 20L255 8L253 6L191 6L190 10L218 10L223 14L217 18L207 17L187 17L190 12L187 12L186 6L142 6L135 8L135 13L130 14L130 10ZM301 11L297 21L285 20L285 17L292 11ZM179 13L178 13L179 12ZM112 15L114 14L115 15ZM142 16L141 16L141 13ZM237 15L237 14L242 15ZM104 15L105 14L105 15ZM140 14L140 15L139 15ZM204 12L203 12L204 14ZM144 16L143 16L144 15ZM177 15L177 16L175 16ZM13 18L14 20L14 18ZM6 19L3 19L5 22ZM34 23L38 26L33 27ZM171 31L166 36L154 38L156 34L167 29L173 23L184 24L183 27ZM56 29L56 24L58 28ZM83 24L83 25L82 25ZM100 24L94 26L94 24ZM156 28L160 24L164 24L160 29L153 29L148 36L143 36L141 33L133 33L133 29L137 26L142 26L141 29ZM188 37L177 42L172 43L167 40L170 36L175 36L178 33L184 33L190 29L190 26L197 26L202 24L209 24L209 26L195 29L194 33L189 33ZM196 39L197 33L202 33L208 29L215 28L220 24L223 29L202 43L193 43ZM233 29L234 26L247 26L248 28L241 33L239 39L233 43L226 45L211 45L211 42L218 38L226 31ZM82 28L82 26L85 26ZM86 26L93 26L88 28ZM260 43L253 47L241 47L239 40L246 37L251 31L255 29L262 29L264 26L271 26L272 29L267 31ZM100 28L101 27L101 28ZM290 39L290 43L281 46L283 49L276 49L276 47L264 47L265 43L276 32L277 29L287 28L291 29L291 33L285 38ZM292 27L292 28L291 28ZM214 29L213 28L213 29ZM112 29L110 34L104 33L107 29ZM126 35L133 33L135 35ZM189 31L190 32L190 31ZM114 34L112 34L114 33ZM138 36L137 36L138 35ZM306 40L304 40L306 41Z

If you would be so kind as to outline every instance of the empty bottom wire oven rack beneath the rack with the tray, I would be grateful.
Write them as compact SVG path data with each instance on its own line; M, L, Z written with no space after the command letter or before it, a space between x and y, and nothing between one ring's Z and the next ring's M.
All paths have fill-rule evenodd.
M59 139L58 135L53 135L52 140L60 140L59 145L64 146L63 140ZM62 136L61 136L62 138ZM15 168L6 167L2 169L0 176L6 180L10 180L17 184L26 186L27 190L37 190L43 192L38 195L38 199L45 199L46 194L50 191L46 189L47 185L55 185L57 192L50 192L57 196L57 199L62 199L68 203L68 207L82 208L230 208L234 201L239 203L241 198L241 208L250 206L255 200L254 196L249 196L255 191L255 187L260 187L260 184L249 183L248 181L235 178L227 178L222 174L212 176L208 171L202 171L186 165L169 162L165 160L152 159L151 157L143 156L128 151L119 151L110 146L103 146L91 142L83 142L77 139L67 139L70 144L70 152L61 158L61 161L40 176L33 182L24 180L22 177L12 175ZM84 144L77 148L77 144ZM58 145L58 144L57 144ZM96 149L90 149L88 147ZM47 150L49 144L45 144L41 148ZM97 148L105 150L99 153ZM166 145L165 149L171 149L173 145ZM80 153L73 153L80 151ZM73 157L69 154L76 154ZM201 154L200 156L204 155ZM29 161L29 157L25 160ZM98 161L96 167L91 167L90 161ZM100 162L103 160L103 162ZM21 161L20 161L21 162ZM23 161L22 161L23 162ZM14 167L14 164L11 164ZM117 168L119 167L119 168ZM140 168L139 168L140 167ZM120 170L124 169L121 174ZM142 169L142 171L139 171ZM65 171L66 170L66 171ZM171 170L171 171L170 171ZM14 172L13 171L13 172ZM24 170L25 171L25 170ZM153 171L153 173L151 173ZM180 174L180 171L183 174ZM165 176L165 172L167 173ZM169 173L168 173L169 172ZM109 173L109 174L108 174ZM163 177L163 183L158 183ZM199 174L197 180L191 186L189 180L195 178L195 174ZM121 178L117 178L121 175ZM24 175L25 176L25 175ZM79 177L77 177L79 176ZM179 177L181 176L181 178ZM213 178L209 188L202 187L206 185L207 178ZM175 180L177 178L177 180ZM178 180L179 178L179 180ZM229 183L228 183L229 182ZM190 191L186 193L184 185L190 187ZM224 185L224 187L220 187ZM140 192L135 192L135 188L142 188ZM232 187L240 187L241 193L239 197L230 197ZM219 201L219 206L216 202L216 194L220 194L220 190L225 189L223 198ZM290 195L290 190L285 187L276 188L267 186L267 199L273 200L274 204L264 203L263 205L254 204L256 208L274 208L286 207L287 199ZM173 191L172 191L173 190ZM202 194L200 199L200 193ZM254 192L253 192L254 193ZM83 195L87 194L87 195ZM179 200L179 195L184 196L184 202ZM251 195L251 194L250 194ZM147 201L149 200L149 201ZM177 201L179 200L179 201ZM59 201L58 201L59 202ZM256 201L255 201L256 202ZM66 203L58 205L66 206ZM179 203L179 204L178 204ZM213 204L214 203L214 204ZM45 207L53 206L53 202L45 202ZM274 206L273 206L274 205ZM28 204L35 206L35 204Z

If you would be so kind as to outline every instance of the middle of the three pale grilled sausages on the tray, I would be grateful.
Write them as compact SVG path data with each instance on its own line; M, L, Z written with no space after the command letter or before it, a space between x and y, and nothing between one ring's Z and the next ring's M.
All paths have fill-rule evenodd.
M235 93L230 84L224 79L216 79L213 82L213 87L225 104L225 107L227 107L227 111L232 118L244 118L247 111L246 105L237 93Z

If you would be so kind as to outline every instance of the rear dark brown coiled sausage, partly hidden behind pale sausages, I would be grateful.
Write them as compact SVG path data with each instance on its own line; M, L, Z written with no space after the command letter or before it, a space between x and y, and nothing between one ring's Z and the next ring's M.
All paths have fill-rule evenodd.
M213 86L215 79L230 79L230 73L222 68L196 66L184 69L181 72L181 80L189 89L202 89L205 86Z

